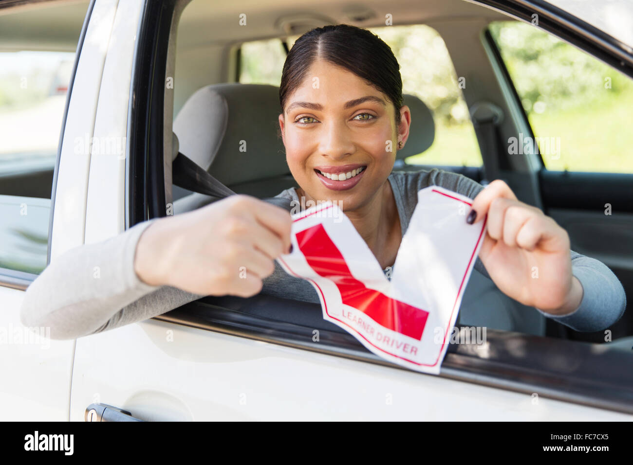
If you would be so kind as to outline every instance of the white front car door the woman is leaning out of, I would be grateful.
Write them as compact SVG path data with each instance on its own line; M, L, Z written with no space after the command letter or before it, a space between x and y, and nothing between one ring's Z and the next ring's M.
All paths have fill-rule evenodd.
M85 242L166 214L173 96L163 82L186 4L107 10L118 40L105 57L94 135L128 138L126 169L114 156L90 160ZM107 84L114 73L120 80ZM70 419L95 418L95 403L142 420L628 419L630 392L615 376L627 356L491 331L477 347L452 346L441 376L422 375L367 352L318 305L206 297L78 339Z

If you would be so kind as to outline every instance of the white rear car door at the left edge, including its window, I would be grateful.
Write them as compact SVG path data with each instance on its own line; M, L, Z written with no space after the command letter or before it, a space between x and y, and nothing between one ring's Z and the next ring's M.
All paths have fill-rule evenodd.
M32 4L25 8L24 4L29 3ZM44 327L22 326L20 306L25 289L46 267L49 245L52 243L57 252L58 238L72 236L77 226L79 233L83 229L74 218L61 221L62 214L56 218L53 235L49 226L60 129L65 124L68 89L72 86L73 64L78 59L76 51L84 37L82 24L90 11L88 1L0 4L0 418L3 420L68 419L75 343L50 340L50 332ZM49 27L42 27L44 24ZM85 77L92 71L82 64L77 73ZM77 106L81 87L75 85L71 106ZM84 115L89 116L89 112L85 108ZM66 122L66 126L69 124ZM82 176L75 171L73 176L72 168L66 173L66 182L58 183L57 195L62 199L69 194L76 196L82 181L87 181L87 173Z

